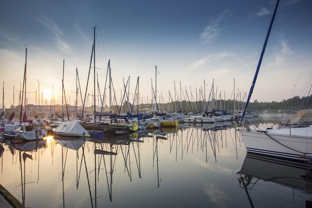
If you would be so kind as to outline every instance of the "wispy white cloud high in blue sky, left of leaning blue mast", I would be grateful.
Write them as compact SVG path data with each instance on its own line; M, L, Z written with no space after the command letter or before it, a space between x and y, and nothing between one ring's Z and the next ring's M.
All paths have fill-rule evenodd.
M209 24L203 28L203 32L199 34L199 39L202 44L209 44L219 36L221 28L219 27L220 22L223 20L224 16L228 14L228 10L224 10L220 14L212 17Z

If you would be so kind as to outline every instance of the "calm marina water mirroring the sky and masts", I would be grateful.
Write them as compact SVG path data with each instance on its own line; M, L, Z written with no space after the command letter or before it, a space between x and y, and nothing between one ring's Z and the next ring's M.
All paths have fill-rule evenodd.
M262 128L276 124L259 122ZM312 199L300 179L265 178L272 171L300 176L302 170L246 157L232 126L203 128L4 143L1 184L26 207L304 207ZM254 177L245 176L250 173Z

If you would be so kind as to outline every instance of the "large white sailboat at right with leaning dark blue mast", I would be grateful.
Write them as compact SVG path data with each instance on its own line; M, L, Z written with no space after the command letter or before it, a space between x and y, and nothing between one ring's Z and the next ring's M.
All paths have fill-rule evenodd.
M266 39L262 48L261 56L251 85L249 96L246 102L245 110L240 119L240 127L247 111L253 89L257 80L263 54L266 48L270 30L274 21L276 11L280 0L277 1L274 13L270 22L270 26L266 35ZM247 124L245 122L245 124ZM251 130L248 125L245 125L245 130L239 130L239 133L244 141L247 152L266 154L274 157L286 157L294 160L306 160L312 158L312 126L291 127L266 129L266 130Z

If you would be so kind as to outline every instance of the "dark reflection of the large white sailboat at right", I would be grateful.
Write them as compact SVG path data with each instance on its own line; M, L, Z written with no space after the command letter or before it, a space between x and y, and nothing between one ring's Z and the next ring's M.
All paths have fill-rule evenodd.
M237 174L240 175L240 178L238 178L239 186L246 190L250 204L253 207L254 204L250 193L252 191L260 192L259 189L261 189L260 193L274 198L279 198L279 194L284 196L289 194L291 197L288 200L282 197L280 199L293 204L298 204L298 201L302 201L302 199L310 200L312 192L307 189L307 186L305 188L305 185L309 183L306 176L310 170L310 164L307 162L247 153ZM274 186L274 189L271 189L272 183L281 186ZM291 190L288 193L283 187L288 187Z

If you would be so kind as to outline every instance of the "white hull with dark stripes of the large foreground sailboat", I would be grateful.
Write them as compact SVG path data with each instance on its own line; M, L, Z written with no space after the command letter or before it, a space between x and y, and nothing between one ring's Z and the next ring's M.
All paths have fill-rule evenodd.
M303 160L305 156L312 157L311 127L292 128L291 130L289 128L271 129L267 130L269 136L264 132L254 130L239 130L239 133L247 152L299 160Z

